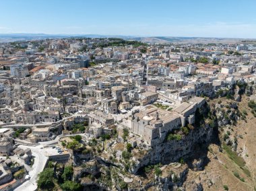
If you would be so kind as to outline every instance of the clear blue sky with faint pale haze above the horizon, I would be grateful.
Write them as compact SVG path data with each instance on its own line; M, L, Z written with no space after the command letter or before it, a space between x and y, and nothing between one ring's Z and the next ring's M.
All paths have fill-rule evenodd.
M256 38L256 0L1 0L0 33Z

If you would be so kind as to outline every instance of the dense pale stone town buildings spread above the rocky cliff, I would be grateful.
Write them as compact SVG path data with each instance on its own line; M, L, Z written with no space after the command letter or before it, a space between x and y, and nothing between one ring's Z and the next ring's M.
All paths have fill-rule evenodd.
M205 97L253 96L247 84L255 82L255 50L254 44L145 44L119 38L0 44L0 155L13 157L0 163L0 183L26 180L22 163L33 158L30 149L18 145L59 144L62 148L47 150L47 159L70 161L74 155L74 167L92 159L81 153L118 165L109 157L115 154L127 171L137 173L148 165L144 151L192 136ZM200 133L198 138L205 135ZM24 157L11 170L6 165L15 155ZM74 178L67 180L73 184ZM119 182L124 188L130 181L125 180Z

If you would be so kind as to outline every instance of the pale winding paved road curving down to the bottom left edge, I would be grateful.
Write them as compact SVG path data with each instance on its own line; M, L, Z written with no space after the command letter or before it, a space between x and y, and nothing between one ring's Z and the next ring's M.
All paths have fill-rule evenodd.
M32 166L32 170L29 171L30 180L24 182L18 188L15 188L15 191L20 191L20 190L27 190L27 191L31 190L31 191L33 191L33 190L36 190L36 188L37 188L37 184L36 184L37 176L44 169L44 166L46 165L48 157L46 157L43 154L42 149L40 149L42 147L41 145L38 145L36 147L20 145L19 147L21 149L26 149L26 148L31 149L32 155L34 156L34 165Z

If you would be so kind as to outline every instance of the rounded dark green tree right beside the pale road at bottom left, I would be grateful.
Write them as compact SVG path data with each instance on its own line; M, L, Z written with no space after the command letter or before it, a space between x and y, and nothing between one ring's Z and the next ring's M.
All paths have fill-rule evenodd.
M54 171L51 168L46 168L38 174L37 185L44 190L53 190L54 184Z

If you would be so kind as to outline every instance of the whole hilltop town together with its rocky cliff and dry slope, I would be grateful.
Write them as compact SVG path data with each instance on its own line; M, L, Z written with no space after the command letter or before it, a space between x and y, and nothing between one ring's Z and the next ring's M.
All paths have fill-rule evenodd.
M255 66L253 42L1 42L0 190L255 190Z

